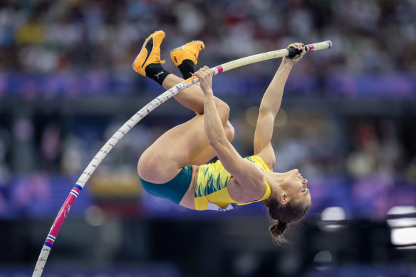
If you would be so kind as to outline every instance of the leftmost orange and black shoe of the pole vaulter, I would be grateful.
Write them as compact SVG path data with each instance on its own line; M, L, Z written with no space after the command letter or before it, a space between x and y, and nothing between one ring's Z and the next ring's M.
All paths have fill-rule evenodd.
M155 31L148 38L140 50L139 55L135 58L132 68L137 72L146 76L146 67L152 63L165 63L160 61L160 44L165 38L164 31ZM150 76L148 76L150 77Z

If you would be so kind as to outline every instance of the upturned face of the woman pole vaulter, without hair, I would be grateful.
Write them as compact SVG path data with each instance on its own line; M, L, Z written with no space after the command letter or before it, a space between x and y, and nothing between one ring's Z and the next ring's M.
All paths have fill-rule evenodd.
M286 196L295 202L302 202L303 207L311 206L311 194L307 187L308 180L303 179L298 169L286 172L285 182L282 186Z

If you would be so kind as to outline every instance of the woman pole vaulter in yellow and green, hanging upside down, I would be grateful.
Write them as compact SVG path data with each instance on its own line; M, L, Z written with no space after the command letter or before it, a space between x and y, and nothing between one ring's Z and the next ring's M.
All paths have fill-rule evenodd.
M162 67L160 45L165 33L156 31L142 46L132 68L165 89L183 81ZM195 73L202 41L192 41L171 51L172 61L183 78L199 77L199 85L182 90L175 99L197 115L167 130L143 152L137 164L142 187L157 197L196 210L232 209L236 205L263 201L274 219L270 231L276 242L284 241L288 224L298 221L311 206L308 181L298 169L272 172L276 157L271 145L274 119L279 111L284 85L293 65L305 55L303 43L288 47L301 51L284 57L261 100L254 133L254 155L241 157L230 143L234 127L229 106L214 96L212 71L204 66ZM219 160L207 164L217 156Z

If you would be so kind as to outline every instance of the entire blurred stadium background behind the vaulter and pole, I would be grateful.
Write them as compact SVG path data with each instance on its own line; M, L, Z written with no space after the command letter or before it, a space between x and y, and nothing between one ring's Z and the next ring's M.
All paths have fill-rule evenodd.
M0 1L0 276L31 276L73 184L113 132L164 90L132 61L163 30L199 66L331 40L296 64L275 122L276 167L312 207L275 246L261 204L190 211L142 191L137 160L192 117L171 99L85 185L43 276L416 276L416 1ZM252 154L279 60L214 78L233 145Z

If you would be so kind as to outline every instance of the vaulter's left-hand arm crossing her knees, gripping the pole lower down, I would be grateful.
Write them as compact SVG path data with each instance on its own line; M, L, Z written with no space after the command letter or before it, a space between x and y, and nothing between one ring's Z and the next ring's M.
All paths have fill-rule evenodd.
M258 187L260 199L262 193L264 194L263 174L254 163L243 159L227 140L215 107L214 94L212 93L212 71L205 66L198 70L195 75L199 77L199 83L204 92L204 130L209 145L216 152L224 168L232 174L242 189L252 190L252 187L255 189ZM238 201L239 199L235 200Z

